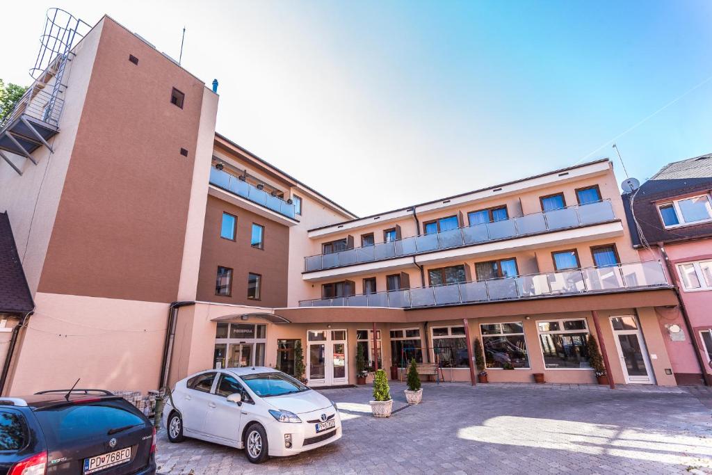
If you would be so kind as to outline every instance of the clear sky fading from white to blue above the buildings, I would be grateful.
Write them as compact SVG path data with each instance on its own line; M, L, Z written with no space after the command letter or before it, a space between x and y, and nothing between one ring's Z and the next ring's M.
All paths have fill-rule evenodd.
M360 215L600 157L620 181L614 138L641 180L712 152L712 1L15 1L0 78L28 84L48 6L174 58L186 26L217 130Z

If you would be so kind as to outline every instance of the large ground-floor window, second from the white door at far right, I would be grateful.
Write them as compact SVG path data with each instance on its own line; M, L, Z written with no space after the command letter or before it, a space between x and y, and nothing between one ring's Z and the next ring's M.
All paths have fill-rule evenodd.
M529 367L524 326L521 322L483 323L480 330L488 368Z

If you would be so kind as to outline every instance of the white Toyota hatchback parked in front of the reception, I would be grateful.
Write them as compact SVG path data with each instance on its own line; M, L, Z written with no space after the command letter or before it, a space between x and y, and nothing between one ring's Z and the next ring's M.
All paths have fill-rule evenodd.
M245 449L253 464L341 438L334 402L269 367L208 370L180 380L163 425L170 442L194 437Z

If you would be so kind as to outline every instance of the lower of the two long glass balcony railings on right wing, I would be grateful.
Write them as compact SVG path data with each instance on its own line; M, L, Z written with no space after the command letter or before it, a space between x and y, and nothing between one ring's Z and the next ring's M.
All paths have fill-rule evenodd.
M512 301L551 296L669 286L660 261L452 283L445 286L409 288L337 298L300 301L300 307L390 307L420 308L460 303Z

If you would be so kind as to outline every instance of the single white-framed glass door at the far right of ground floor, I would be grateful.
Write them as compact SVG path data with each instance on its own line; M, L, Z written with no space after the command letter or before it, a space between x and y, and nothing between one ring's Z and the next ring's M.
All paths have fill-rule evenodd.
M654 383L648 350L645 348L637 317L634 315L611 317L611 326L626 382Z

